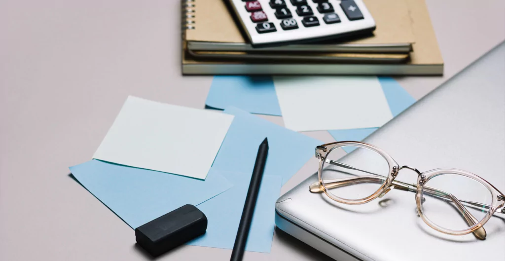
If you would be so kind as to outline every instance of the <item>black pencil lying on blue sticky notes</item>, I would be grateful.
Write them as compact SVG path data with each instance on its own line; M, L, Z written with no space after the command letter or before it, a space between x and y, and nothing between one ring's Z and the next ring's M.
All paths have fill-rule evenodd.
M254 170L252 170L251 182L245 197L244 209L242 210L242 217L238 225L237 237L235 237L235 244L231 251L230 261L240 261L244 255L245 243L247 242L247 235L251 226L252 214L256 206L256 199L260 191L261 179L263 178L263 170L267 162L268 154L268 140L265 138L258 148L258 155L256 155L256 163Z

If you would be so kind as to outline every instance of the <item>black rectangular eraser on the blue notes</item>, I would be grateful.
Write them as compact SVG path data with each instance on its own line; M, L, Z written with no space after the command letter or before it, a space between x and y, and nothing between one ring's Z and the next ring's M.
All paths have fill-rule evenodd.
M205 234L205 230L205 214L187 204L136 228L135 239L149 254L158 256Z

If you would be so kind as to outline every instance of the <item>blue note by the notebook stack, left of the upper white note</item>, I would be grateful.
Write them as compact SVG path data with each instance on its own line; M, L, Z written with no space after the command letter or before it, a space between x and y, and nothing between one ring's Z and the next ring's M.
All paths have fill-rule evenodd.
M234 106L249 113L281 115L270 76L215 76L205 104L214 109Z

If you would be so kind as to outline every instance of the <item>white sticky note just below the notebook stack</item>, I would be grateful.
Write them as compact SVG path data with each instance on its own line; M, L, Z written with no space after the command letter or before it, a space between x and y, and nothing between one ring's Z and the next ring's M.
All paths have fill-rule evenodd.
M380 127L393 118L377 77L274 77L286 128L294 131Z

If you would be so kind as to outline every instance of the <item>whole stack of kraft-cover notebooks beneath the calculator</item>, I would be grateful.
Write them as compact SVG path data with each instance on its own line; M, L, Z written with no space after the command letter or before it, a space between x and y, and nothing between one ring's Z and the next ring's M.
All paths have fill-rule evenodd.
M424 0L365 0L377 29L331 42L254 48L224 0L183 2L182 72L211 75L441 75Z

